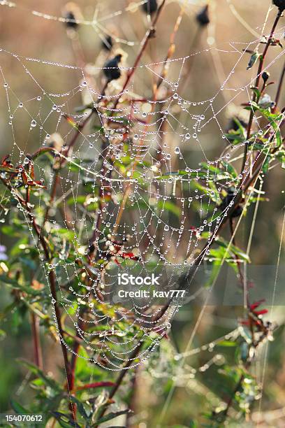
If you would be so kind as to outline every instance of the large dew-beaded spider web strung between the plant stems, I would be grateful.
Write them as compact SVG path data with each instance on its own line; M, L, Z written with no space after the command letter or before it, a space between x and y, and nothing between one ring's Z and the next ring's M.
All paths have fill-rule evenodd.
M76 22L92 27L102 40L112 35L117 43L138 49L141 41L114 35L106 29L106 23L118 16L140 13L143 3L118 9L115 13L108 13L107 8L103 8L105 14L98 17L97 11L93 20L82 18ZM30 13L33 19L48 20L50 25L68 22L66 18L29 10L8 1L2 1L1 6ZM150 17L147 18L149 21ZM278 38L282 32L283 29L279 29L275 36ZM145 277L155 271L161 282L166 280L168 287L175 287L177 277L195 266L200 257L196 250L201 234L207 233L208 246L205 246L199 265L209 259L211 237L217 234L231 207L230 203L219 209L221 192L230 186L235 194L239 192L249 173L251 156L249 152L243 174L233 178L231 164L240 159L247 142L232 146L231 141L227 141L221 117L241 99L243 102L251 100L252 76L242 87L235 87L233 76L240 64L245 66L248 62L245 51L254 50L260 41L261 38L249 42L232 41L167 61L142 62L136 66L123 92L126 76L133 71L133 66L128 65L129 58L119 67L122 77L102 91L107 57L99 56L95 64L83 67L64 61L26 57L16 50L10 52L1 47L7 134L13 142L9 147L13 163L23 166L31 163L27 152L31 151L29 145L33 141L38 141L36 149L53 147L56 152L50 169L38 160L33 162L34 176L48 192L52 190L55 178L59 183L52 201L47 199L45 192L38 190L38 205L32 207L42 217L46 214L44 225L57 242L58 256L52 263L45 261L29 215L21 206L19 208L29 225L31 243L37 248L42 262L38 277L45 278L49 286L49 272L52 270L56 275L58 298L54 301L50 294L52 307L58 304L66 312L68 321L77 331L76 336L87 350L84 355L82 352L78 354L57 331L59 340L69 352L110 371L120 371L145 362L159 346L160 339L170 331L171 320L180 304L174 302L165 316L154 321L154 315L159 313L154 301L130 299L128 305L120 305L112 301L112 290L117 285L118 274L123 272ZM183 81L193 58L213 52L228 55L233 64L219 90L207 94L205 99L185 98ZM284 50L276 52L265 69L270 69L282 58ZM13 64L13 73L23 80L20 89L15 90L10 84L9 64ZM59 73L59 90L51 92L45 88L44 81L38 80L42 68L46 76ZM78 84L72 87L69 81L74 75ZM154 99L148 85L157 79L161 80L161 85ZM24 93L26 81L34 85L31 98ZM224 99L222 107L221 99ZM85 108L78 108L79 100ZM89 117L87 125L81 128ZM24 135L19 134L17 122L28 124ZM224 151L219 158L211 159L206 142L213 124ZM256 116L254 125L257 139L267 129L260 126ZM71 147L74 135L77 139ZM26 141L24 148L23 141ZM191 150L199 153L203 166L191 161ZM218 194L212 187L213 181ZM47 211L46 206L49 206ZM60 207L59 215L57 208ZM195 215L193 208L197 212ZM93 256L89 257L91 245L103 269L94 262ZM71 253L74 257L70 257ZM73 283L80 285L80 292ZM202 291L201 285L196 294ZM190 300L195 297L188 294ZM88 320L82 315L86 313ZM94 327L92 332L85 331L82 322L88 328ZM57 325L55 313L54 323ZM197 371L206 371L212 364L223 362L223 357L216 354L207 364L195 369L184 364L186 357L196 352L212 352L219 341L235 339L240 334L240 329L234 329L217 341L177 353L175 383L182 385L195 378ZM193 335L187 348L192 341ZM134 354L141 343L147 345ZM178 364L180 361L183 361L182 365ZM163 366L159 370L157 366L152 367L151 362L149 370L156 378L169 375L163 371Z

